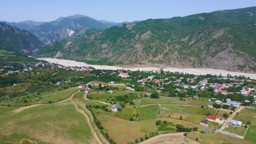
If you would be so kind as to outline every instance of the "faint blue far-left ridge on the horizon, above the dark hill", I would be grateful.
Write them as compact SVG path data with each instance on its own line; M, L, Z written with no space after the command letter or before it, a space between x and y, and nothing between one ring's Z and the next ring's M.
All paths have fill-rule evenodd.
M41 25L44 22L37 22L37 21L21 21L21 22L7 22L7 21L3 21L4 23L6 23L7 25L11 25L11 26L15 26L19 29L25 29L27 31L30 31L31 29Z

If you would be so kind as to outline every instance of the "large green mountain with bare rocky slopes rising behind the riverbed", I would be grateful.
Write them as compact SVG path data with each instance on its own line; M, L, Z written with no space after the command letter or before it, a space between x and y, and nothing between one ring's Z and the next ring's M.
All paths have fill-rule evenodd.
M256 7L120 24L45 46L39 57L92 64L256 71Z

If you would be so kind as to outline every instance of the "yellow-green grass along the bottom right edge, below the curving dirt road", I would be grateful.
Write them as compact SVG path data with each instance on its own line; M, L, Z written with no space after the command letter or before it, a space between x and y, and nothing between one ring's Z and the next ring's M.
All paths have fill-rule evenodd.
M224 134L214 134L214 133L207 133L207 134L188 134L188 137L190 139L196 140L198 139L198 142L200 143L209 143L209 144L223 144L223 143L243 143L243 144L249 144L253 143L251 141L238 139L236 137L231 137Z

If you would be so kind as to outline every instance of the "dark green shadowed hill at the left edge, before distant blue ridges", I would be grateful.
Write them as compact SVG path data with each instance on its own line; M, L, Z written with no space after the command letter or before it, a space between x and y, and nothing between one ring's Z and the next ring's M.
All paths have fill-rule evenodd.
M0 50L33 53L43 46L36 35L0 22Z

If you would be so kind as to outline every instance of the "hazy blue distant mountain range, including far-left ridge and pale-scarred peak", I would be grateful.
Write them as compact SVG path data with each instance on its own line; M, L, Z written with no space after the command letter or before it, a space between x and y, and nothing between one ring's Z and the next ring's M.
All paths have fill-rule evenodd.
M110 21L97 21L85 15L72 15L67 17L59 17L59 19L51 22L6 22L8 25L25 29L35 34L44 44L51 44L62 39L71 37L72 35L84 35L98 29L105 29L118 25L118 23Z

